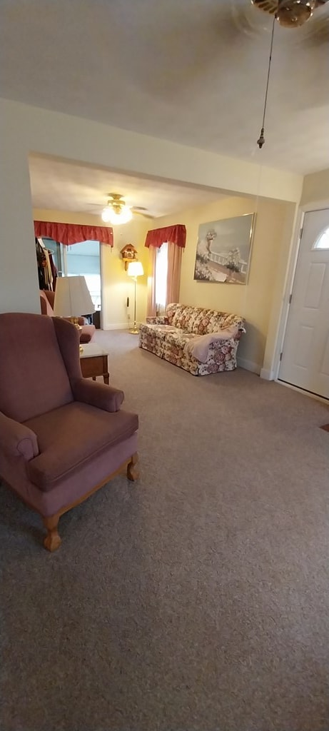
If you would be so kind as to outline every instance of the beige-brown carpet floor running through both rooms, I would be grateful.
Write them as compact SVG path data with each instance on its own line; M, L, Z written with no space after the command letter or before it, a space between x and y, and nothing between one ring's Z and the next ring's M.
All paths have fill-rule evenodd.
M1 486L1 731L329 729L329 408L97 333L141 477L61 518Z

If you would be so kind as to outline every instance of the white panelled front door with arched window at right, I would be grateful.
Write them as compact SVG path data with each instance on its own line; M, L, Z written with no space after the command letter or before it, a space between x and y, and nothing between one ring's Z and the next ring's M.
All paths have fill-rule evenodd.
M329 398L329 209L305 214L279 380Z

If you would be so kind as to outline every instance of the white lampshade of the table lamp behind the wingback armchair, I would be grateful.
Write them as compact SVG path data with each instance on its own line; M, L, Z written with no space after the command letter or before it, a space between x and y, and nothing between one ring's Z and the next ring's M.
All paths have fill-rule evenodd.
M84 276L58 277L53 307L55 315L59 317L80 317L94 311L94 303Z

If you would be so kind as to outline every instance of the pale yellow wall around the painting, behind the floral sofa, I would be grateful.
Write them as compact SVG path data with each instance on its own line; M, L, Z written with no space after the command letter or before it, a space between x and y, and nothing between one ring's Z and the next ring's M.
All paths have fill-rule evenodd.
M279 265L282 265L282 250L288 261L289 252L286 249L290 243L292 230L292 221L289 231L286 230L288 210L289 205L285 203L230 197L189 208L175 216L167 216L156 221L156 227L173 223L186 225L180 301L243 315L246 319L247 332L239 346L240 363L257 373L260 373L263 365L270 318L272 320L275 313L278 318L280 315L281 288L284 287L285 271L281 272ZM243 213L254 211L257 215L248 284L242 286L194 281L199 225L206 221L241 216ZM276 299L279 301L276 302Z

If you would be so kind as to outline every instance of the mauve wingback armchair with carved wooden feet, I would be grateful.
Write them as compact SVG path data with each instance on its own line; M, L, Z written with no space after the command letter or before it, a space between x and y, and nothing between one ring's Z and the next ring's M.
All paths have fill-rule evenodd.
M124 393L83 379L79 335L59 317L0 314L0 475L42 516L45 548L60 516L126 471L138 477L137 414Z

